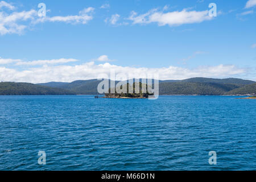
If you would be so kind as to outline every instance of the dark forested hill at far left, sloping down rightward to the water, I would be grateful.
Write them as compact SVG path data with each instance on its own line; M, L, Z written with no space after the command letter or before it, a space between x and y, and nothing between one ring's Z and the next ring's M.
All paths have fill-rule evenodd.
M69 90L60 88L51 88L48 86L0 82L0 95L72 95L75 94Z

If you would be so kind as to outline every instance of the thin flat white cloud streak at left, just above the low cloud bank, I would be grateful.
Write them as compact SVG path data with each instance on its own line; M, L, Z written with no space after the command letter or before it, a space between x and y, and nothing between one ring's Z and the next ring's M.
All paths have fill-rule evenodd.
M19 61L15 65L46 65L46 64L60 64L60 63L70 63L78 61L76 59L52 59L52 60L35 60L35 61Z

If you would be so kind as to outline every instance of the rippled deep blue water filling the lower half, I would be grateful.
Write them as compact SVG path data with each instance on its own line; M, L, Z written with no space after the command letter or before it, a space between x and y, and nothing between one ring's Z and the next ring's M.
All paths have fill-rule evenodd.
M0 169L255 170L256 100L234 98L0 96Z

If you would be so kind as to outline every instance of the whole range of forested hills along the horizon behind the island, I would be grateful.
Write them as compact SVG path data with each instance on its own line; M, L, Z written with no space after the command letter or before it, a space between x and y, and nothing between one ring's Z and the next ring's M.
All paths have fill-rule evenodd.
M26 84L2 82L0 94L92 94L97 95L101 81L77 80L67 82L48 82L45 84ZM115 81L117 84L118 81ZM109 81L110 83L110 81ZM109 84L110 85L110 84ZM154 81L153 81L154 86ZM256 82L238 78L189 78L186 80L159 80L160 95L245 95L256 93ZM125 96L124 96L125 97ZM129 97L129 96L128 96ZM137 96L136 96L137 97ZM141 97L141 96L138 96Z

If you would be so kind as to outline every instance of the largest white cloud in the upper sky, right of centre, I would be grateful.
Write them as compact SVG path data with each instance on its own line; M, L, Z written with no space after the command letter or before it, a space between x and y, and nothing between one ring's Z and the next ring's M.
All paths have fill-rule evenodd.
M153 9L142 15L138 15L135 11L132 11L130 17L127 19L132 20L133 24L158 23L159 26L166 24L169 26L180 26L181 24L200 23L205 20L211 20L212 18L208 15L208 10L188 11L188 9L184 9L182 11L163 13L157 9Z

